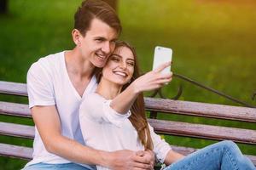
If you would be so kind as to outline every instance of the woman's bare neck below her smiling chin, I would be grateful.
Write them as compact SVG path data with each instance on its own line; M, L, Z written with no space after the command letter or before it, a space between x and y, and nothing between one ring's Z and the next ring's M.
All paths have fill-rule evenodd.
M109 82L102 77L101 82L96 88L96 93L102 95L105 99L114 99L120 94L122 86L119 84Z

